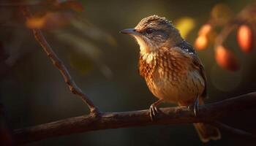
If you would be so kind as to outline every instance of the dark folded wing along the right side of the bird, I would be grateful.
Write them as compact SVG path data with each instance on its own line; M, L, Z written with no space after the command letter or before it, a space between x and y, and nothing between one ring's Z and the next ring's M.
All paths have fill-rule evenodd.
M177 47L180 47L181 50L183 50L186 53L189 53L189 55L192 56L192 64L195 66L195 69L197 69L200 72L200 75L203 77L203 80L205 83L205 88L201 96L206 97L207 96L206 72L202 62L197 57L197 53L195 52L194 48L191 45L189 45L189 43L186 41L181 42L180 44L177 45Z

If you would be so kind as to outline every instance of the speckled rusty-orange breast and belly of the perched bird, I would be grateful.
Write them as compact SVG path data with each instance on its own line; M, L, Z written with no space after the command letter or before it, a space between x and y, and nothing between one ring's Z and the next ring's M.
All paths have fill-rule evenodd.
M180 50L159 50L150 62L140 56L139 70L158 99L188 105L204 90L203 77L191 63L189 55Z

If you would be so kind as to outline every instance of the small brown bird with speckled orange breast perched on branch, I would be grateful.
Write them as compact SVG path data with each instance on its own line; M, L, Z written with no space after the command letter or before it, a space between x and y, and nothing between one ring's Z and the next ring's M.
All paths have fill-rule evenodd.
M207 97L206 72L192 45L181 37L173 23L151 15L135 28L120 31L135 38L140 46L138 70L157 101L149 107L151 120L162 102L186 106L197 116L198 106ZM219 129L207 123L194 123L202 142L221 139Z

